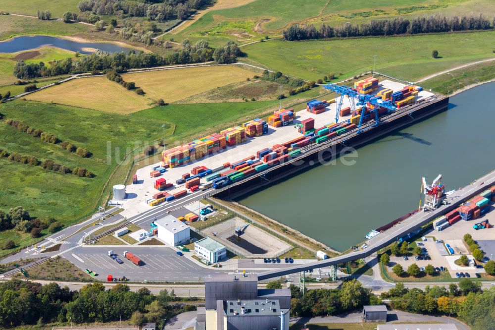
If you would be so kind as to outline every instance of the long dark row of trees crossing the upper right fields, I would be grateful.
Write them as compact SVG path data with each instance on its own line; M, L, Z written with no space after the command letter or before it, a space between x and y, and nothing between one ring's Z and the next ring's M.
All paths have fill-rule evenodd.
M313 24L292 25L283 31L284 40L307 40L323 38L347 38L364 36L391 36L398 34L439 33L468 30L488 30L495 26L495 18L490 20L483 15L464 15L461 17L415 17L412 19L396 17L389 20L371 20L362 24L346 23L332 27L323 23L319 29Z

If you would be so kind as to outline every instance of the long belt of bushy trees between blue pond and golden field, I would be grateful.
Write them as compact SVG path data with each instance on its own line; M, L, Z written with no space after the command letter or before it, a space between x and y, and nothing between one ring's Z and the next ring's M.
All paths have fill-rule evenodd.
M162 65L187 64L215 60L217 63L234 63L241 51L237 44L229 41L223 47L213 50L208 42L200 40L194 45L189 40L182 42L181 49L160 56L143 51L134 50L129 53L119 52L109 54L97 51L91 55L76 58L66 58L54 60L49 66L44 62L27 63L23 60L15 63L13 74L19 79L29 79L36 77L58 76L62 74L77 74L83 72L93 72L99 74L114 70L124 72L131 68L149 68Z

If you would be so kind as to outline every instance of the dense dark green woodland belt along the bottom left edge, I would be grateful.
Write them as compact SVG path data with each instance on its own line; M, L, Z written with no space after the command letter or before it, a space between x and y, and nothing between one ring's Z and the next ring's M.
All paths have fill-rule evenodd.
M176 314L194 310L170 306L178 298L173 290L161 290L156 296L147 288L132 292L128 285L117 284L105 290L103 284L87 284L71 291L57 283L41 285L17 279L0 284L0 326L56 323L90 323L129 320L140 326L143 322L160 323ZM193 297L191 300L197 300Z

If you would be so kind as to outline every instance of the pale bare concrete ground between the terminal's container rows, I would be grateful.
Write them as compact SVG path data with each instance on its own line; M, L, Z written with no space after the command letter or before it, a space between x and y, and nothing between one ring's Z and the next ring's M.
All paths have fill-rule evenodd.
M394 91L398 91L402 89L403 86L405 86L404 84L392 82L390 80L383 80L380 82L380 84L380 90L391 88ZM433 93L422 91L419 93L418 100L428 98L432 95ZM349 100L345 98L343 108L348 107L349 105ZM167 182L174 183L172 189L169 190L170 193L184 190L184 185L175 185L175 181L180 178L182 174L190 173L193 167L204 165L208 168L215 168L223 165L226 162L232 163L244 159L248 156L256 155L256 152L258 150L271 147L274 144L285 143L289 140L299 137L300 133L297 132L297 129L294 127L294 125L300 123L302 120L307 118L314 118L315 127L322 127L323 125L335 122L335 113L335 103L331 104L328 107L327 111L320 114L312 114L305 109L298 110L295 113L293 125L278 128L269 126L268 133L265 135L255 138L247 138L246 142L244 143L233 147L227 147L227 149L221 150L220 152L212 155L208 155L196 162L188 163L186 165L178 166L175 168L168 168L165 173L157 178L164 178ZM341 117L339 118L339 122L345 121L349 118L350 115ZM129 218L152 209L152 207L146 204L146 200L152 198L152 196L158 192L156 189L153 188L154 181L157 178L150 177L149 172L152 170L152 167L160 164L161 162L153 165L147 165L137 170L139 184L131 184L126 187L126 192L128 193L129 198L121 202L122 207L125 209L125 211L122 213L123 216ZM201 179L201 183L204 182L205 179Z

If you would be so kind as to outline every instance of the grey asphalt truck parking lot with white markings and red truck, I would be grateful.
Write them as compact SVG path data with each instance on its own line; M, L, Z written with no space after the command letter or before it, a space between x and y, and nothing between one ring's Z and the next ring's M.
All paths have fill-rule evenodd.
M132 247L130 252L139 257L144 265L136 266L125 259L126 247L78 247L66 253L65 257L81 269L91 269L99 274L100 280L107 275L113 277L126 276L131 281L198 281L208 275L225 274L228 270L204 269L186 257L178 256L174 249L168 247ZM123 261L117 264L107 252L113 250Z

